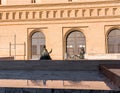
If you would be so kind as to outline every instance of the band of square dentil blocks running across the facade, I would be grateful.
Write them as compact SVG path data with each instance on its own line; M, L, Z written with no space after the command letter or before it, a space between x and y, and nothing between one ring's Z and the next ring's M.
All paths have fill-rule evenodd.
M35 5L34 5L35 6ZM38 5L36 5L38 6ZM5 7L5 6L4 6ZM120 15L120 6L98 6L98 7L78 7L74 6L73 8L67 6L66 8L61 6L56 6L53 8L52 4L48 9L44 7L33 7L29 5L29 8L21 8L20 6L12 8L2 9L0 7L0 21L14 22L14 21L30 21L30 20L61 20L61 19L95 19L95 18L111 18ZM47 6L46 6L47 7ZM13 10L15 8L15 10Z

